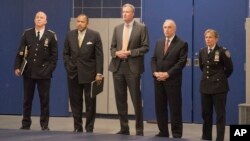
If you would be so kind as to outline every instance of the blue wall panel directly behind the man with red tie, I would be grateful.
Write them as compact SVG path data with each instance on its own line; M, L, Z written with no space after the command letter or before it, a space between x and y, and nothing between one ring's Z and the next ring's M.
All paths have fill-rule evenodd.
M151 57L156 41L163 37L162 25L165 19L173 19L177 24L177 35L188 42L189 57L192 52L192 0L144 0L143 22L147 25L150 38L150 51L146 54L143 76L144 119L155 119L154 84L151 72ZM192 77L191 67L187 66L183 72L183 120L192 121Z

